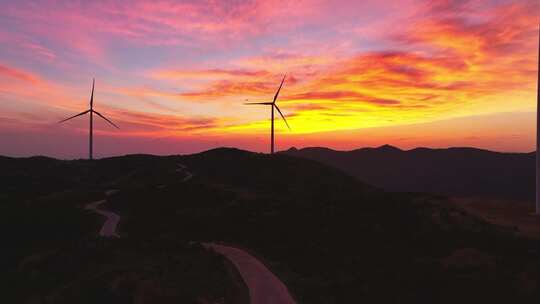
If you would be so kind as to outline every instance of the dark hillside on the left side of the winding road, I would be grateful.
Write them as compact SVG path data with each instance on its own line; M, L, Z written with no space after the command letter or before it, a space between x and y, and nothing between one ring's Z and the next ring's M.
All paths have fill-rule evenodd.
M108 189L136 192L176 179L174 162L143 155L0 161L8 168L0 173L0 286L7 302L247 303L234 267L198 243L97 236L103 218L84 210L87 203Z

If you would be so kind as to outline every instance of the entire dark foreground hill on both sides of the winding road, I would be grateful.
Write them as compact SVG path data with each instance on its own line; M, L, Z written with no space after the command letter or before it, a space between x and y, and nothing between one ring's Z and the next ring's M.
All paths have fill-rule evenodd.
M10 303L241 303L223 260L199 242L256 252L298 303L527 303L540 294L538 241L442 197L384 192L313 160L220 148L26 161L0 171L16 181L0 204ZM54 177L63 184L25 192ZM121 239L96 236L102 219L84 206L102 199L122 216Z

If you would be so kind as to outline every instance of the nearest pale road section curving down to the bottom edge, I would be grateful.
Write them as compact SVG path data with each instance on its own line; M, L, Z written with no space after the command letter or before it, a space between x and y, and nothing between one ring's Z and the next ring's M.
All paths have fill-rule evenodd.
M242 249L204 243L205 248L229 259L249 289L251 304L295 304L289 290L263 263Z

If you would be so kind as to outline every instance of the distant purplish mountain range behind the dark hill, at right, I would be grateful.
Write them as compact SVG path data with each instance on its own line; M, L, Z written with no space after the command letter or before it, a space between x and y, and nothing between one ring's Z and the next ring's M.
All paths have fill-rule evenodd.
M405 151L384 145L352 151L291 148L280 153L319 161L390 191L513 200L534 200L535 195L535 152L475 148Z

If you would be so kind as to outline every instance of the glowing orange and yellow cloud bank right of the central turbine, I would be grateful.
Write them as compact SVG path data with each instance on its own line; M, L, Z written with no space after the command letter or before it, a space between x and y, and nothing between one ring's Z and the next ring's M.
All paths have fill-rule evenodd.
M444 7L437 13L447 14ZM532 2L503 5L474 22L455 14L420 19L399 40L410 50L362 52L315 65L316 73L286 83L282 109L295 110L291 124L300 133L528 110L534 105L524 102L534 98L538 8ZM266 81L233 78L194 96L259 96L272 89Z

